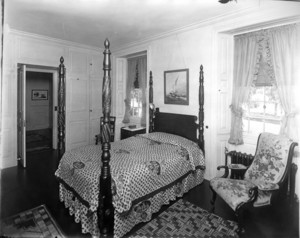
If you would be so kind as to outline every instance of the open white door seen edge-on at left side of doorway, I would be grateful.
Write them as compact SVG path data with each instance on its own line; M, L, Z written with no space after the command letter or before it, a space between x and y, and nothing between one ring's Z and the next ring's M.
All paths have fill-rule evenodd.
M18 159L26 167L26 65L18 68Z

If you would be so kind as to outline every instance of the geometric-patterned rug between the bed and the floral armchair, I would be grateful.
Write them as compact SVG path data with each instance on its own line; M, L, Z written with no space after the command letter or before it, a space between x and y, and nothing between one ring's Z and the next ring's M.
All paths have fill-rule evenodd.
M134 232L137 237L238 237L237 223L180 199Z

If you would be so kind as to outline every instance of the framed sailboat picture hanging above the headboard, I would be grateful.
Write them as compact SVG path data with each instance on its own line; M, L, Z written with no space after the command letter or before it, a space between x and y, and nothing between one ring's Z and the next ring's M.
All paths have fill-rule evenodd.
M189 69L164 72L165 104L189 105Z

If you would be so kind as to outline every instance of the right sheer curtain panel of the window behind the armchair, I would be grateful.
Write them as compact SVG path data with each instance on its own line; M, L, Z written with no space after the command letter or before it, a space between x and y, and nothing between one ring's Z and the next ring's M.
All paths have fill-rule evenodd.
M296 116L299 114L299 106L296 98L297 80L296 76L297 57L299 57L299 26L292 24L267 30L270 45L270 56L273 63L279 99L284 110L280 133L298 141L298 122ZM298 44L298 45L297 45ZM298 89L299 90L299 89Z

